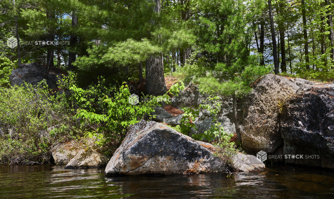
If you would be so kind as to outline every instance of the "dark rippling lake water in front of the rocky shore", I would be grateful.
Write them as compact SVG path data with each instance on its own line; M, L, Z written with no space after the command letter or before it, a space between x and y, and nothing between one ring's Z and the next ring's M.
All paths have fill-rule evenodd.
M101 169L0 167L0 198L334 198L334 173L304 168L174 176L105 177Z

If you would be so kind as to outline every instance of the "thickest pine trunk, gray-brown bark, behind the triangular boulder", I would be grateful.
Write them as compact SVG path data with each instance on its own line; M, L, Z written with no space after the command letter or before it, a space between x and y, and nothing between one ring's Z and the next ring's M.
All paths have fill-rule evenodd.
M160 0L154 0L154 11L160 13ZM162 54L151 55L146 59L146 94L163 95L167 92L164 78L164 63Z

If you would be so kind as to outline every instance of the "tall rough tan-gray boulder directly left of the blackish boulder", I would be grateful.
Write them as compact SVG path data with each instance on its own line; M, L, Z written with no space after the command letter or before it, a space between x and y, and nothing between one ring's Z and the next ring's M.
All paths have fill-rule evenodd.
M301 86L311 83L302 79L290 81L274 74L255 82L253 91L244 101L242 146L248 151L273 153L283 143L279 130L282 104Z

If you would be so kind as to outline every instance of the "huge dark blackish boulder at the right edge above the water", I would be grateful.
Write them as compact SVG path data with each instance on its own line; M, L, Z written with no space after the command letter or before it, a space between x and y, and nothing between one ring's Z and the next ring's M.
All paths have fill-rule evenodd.
M299 89L283 106L280 128L284 153L304 154L287 163L334 169L334 83Z

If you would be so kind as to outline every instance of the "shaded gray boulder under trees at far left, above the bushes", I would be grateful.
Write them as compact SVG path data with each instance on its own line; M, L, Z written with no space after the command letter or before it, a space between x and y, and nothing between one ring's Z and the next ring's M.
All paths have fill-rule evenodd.
M46 66L34 62L31 64L22 64L17 69L12 71L12 75L9 77L10 85L22 85L24 82L37 85L38 82L42 81L45 78ZM57 88L57 75L61 77L60 71L52 68L49 70L47 85L51 89Z

